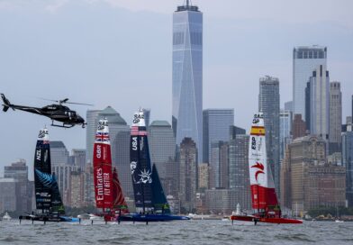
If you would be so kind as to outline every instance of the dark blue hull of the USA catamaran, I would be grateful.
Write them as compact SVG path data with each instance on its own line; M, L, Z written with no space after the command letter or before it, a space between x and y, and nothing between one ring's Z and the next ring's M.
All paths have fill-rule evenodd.
M118 218L121 222L171 222L171 221L188 221L189 217L178 216L172 214L140 214L131 213L123 214Z

